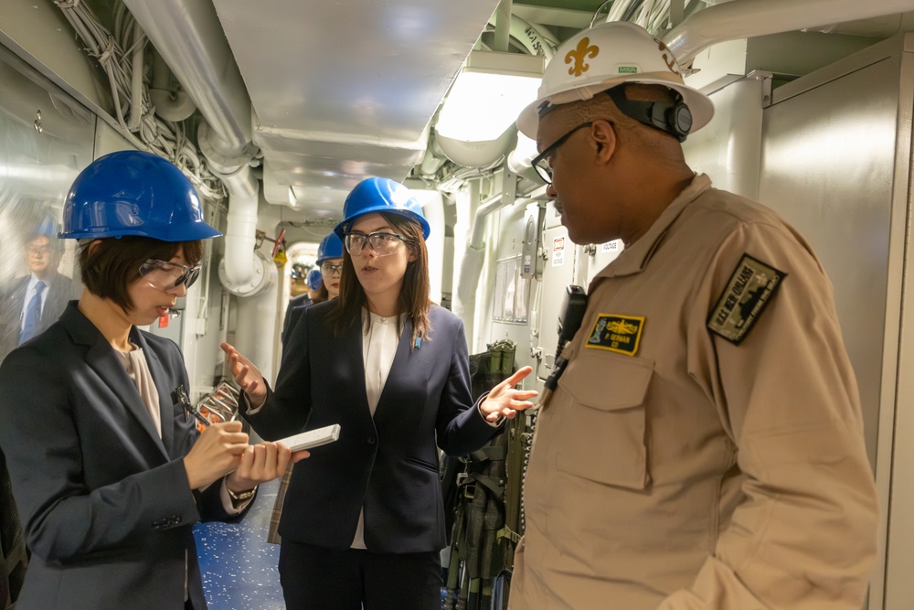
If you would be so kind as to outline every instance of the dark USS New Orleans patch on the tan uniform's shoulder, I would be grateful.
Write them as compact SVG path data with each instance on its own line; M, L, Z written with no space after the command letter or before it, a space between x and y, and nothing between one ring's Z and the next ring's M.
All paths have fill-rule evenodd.
M714 311L707 317L707 327L739 345L785 277L787 273L743 254Z

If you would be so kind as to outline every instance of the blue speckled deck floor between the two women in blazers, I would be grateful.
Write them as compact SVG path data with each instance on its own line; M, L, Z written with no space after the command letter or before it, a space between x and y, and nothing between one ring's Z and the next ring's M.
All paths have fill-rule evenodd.
M240 523L197 523L194 536L210 610L284 610L280 547L267 542L279 480L260 486Z

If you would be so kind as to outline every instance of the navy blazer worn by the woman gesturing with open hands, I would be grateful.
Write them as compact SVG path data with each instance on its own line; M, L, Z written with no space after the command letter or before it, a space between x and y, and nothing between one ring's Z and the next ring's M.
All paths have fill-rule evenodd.
M447 454L464 455L497 432L473 407L463 323L432 306L430 339L419 349L410 349L405 325L372 418L362 325L334 337L324 318L337 303L304 308L276 389L246 415L268 440L341 426L338 441L294 466L279 533L282 540L348 549L364 506L369 551L439 551L445 536L436 441Z

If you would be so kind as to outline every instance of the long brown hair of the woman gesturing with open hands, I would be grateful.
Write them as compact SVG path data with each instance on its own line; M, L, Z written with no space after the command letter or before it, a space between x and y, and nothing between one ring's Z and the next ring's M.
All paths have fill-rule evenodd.
M394 232L407 238L406 246L415 256L415 261L407 263L403 276L403 288L399 294L400 311L405 312L412 322L409 345L416 345L416 339L428 340L431 333L429 308L431 305L431 283L429 280L429 250L422 238L422 227L419 222L402 214L379 212ZM328 314L330 328L338 337L347 326L362 319L362 307L366 304L365 290L358 283L356 268L349 251L343 249L343 274L340 277L339 305Z

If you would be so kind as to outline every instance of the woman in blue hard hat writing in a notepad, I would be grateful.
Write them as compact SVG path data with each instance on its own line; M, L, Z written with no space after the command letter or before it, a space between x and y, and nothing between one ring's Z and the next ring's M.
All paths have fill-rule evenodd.
M197 433L180 350L138 327L168 315L219 233L190 181L139 152L80 173L63 221L80 300L0 366L0 445L32 551L16 607L206 608L194 523L239 518L291 459L250 446L240 422Z

